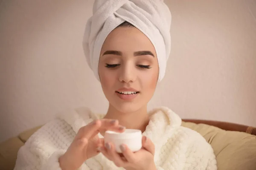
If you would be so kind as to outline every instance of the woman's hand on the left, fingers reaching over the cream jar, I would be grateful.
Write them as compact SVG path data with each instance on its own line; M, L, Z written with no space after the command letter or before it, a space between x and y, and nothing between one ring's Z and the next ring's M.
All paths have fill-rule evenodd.
M98 133L104 134L106 130L123 132L125 127L119 125L118 120L99 119L81 127L67 149L59 158L62 170L77 170L87 159L99 154L97 146L103 142Z

